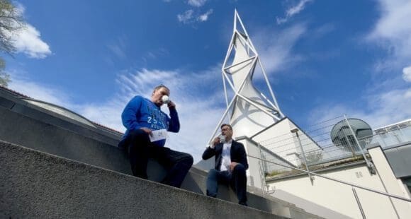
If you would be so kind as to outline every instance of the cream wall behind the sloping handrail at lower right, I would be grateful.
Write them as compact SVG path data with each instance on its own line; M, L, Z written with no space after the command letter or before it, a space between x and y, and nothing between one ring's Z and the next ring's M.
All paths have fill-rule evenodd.
M395 179L393 172L389 169L388 162L382 155L381 149L379 150L379 152L376 149L371 150L370 155L376 164L380 177L376 174L371 175L364 162L358 165L321 172L320 174L351 184L361 185L362 187L387 192L384 189L385 185L385 187L388 188L388 193L407 197L405 196L407 193L403 185L398 179ZM385 184L383 184L383 182L385 182ZM315 177L312 184L306 174L298 177L271 180L267 182L267 184L269 184L271 189L286 191L289 194L312 201L320 206L325 206L339 213L348 215L351 218L362 218L352 187L346 184L321 177ZM398 218L393 204L387 196L363 189L356 189L356 192L367 218ZM400 218L407 218L405 215L411 215L410 203L405 203L404 201L393 202L399 205L396 210Z

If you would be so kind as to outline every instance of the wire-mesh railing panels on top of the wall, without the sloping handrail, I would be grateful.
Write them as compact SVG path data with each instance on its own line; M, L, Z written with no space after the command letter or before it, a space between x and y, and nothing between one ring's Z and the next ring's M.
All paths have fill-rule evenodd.
M343 129L330 134L332 127L339 122L341 122ZM369 162L366 146L371 143L380 143L385 148L393 143L411 141L411 126L393 130L395 134L388 132L383 136L381 134L372 134L370 129L370 135L363 138L356 138L354 130L350 127L349 119L344 118L344 116L335 117L310 126L307 129L308 131L303 129L298 129L298 132L293 133L290 131L281 136L259 141L259 144L291 162L295 167L302 167L303 169L309 167L309 170L317 170L354 160L364 160L372 172L373 164ZM395 138L395 141L393 138ZM264 152L263 156L269 161L278 161L272 156L270 158L270 155L264 154ZM281 167L272 163L265 163L264 167L265 174L271 176L295 172L288 166ZM313 169L310 167L313 167Z

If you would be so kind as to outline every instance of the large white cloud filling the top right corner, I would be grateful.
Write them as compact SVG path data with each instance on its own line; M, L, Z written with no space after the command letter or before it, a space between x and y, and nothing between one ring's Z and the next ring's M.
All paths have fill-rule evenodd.
M411 59L411 1L379 0L381 17L366 40L388 51L388 57L376 64L379 69L402 69Z

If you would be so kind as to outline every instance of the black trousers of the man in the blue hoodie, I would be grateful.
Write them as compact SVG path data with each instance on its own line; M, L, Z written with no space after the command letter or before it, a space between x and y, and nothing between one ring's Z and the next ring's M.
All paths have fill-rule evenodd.
M135 177L147 179L148 158L153 158L167 170L167 175L162 183L171 187L181 187L188 170L193 165L191 155L170 148L155 146L150 142L148 134L140 129L130 131L123 141L125 141L123 143L125 144L125 150L128 152L131 169Z

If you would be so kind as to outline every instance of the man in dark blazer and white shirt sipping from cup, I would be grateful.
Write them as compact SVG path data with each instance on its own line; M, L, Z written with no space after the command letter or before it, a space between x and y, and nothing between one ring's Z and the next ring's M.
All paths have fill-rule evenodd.
M247 206L247 154L242 143L232 140L232 127L221 125L221 136L205 149L203 160L215 156L215 168L208 172L207 195L217 196L218 183L230 184L237 192L238 203Z

